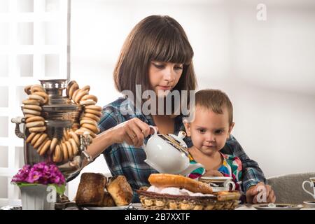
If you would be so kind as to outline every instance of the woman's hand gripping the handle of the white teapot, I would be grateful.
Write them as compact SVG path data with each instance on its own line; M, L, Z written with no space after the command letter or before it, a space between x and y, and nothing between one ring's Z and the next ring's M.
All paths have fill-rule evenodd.
M132 118L111 128L110 132L112 132L114 143L125 141L132 146L141 147L144 144L144 138L153 134L154 130L139 118Z

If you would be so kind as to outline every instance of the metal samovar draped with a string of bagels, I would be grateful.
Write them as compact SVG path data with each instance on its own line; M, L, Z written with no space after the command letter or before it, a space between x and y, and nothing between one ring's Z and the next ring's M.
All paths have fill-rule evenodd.
M49 96L48 104L42 106L41 116L45 119L46 131L50 139L61 140L65 130L71 129L73 123L79 123L82 106L74 104L64 94L66 89L66 79L39 80L41 86ZM26 142L29 131L25 125L24 117L17 117L11 120L16 124L15 134L24 139L24 160L27 165L34 165L38 162L52 162L49 155L39 155L36 149ZM20 131L22 125L23 132ZM80 134L80 146L77 155L69 161L59 162L56 165L60 172L64 174L66 181L71 180L81 169L83 163L92 161L90 155L86 153L86 148L90 144L91 138L88 132Z

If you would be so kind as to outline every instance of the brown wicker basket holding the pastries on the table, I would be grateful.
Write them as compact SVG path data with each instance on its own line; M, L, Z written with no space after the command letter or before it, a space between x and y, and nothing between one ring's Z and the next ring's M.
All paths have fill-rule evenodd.
M214 193L213 196L195 197L168 195L137 190L144 209L150 210L232 210L239 204L238 191Z

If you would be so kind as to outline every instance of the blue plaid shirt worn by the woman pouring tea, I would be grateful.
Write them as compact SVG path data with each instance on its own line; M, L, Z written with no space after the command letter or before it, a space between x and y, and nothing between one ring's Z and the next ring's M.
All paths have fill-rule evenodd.
M134 109L130 99L123 97L118 98L115 102L104 106L102 110L103 116L99 121L99 129L101 132L109 130L109 128L123 123L132 118L139 118L148 125L155 125L152 116L145 116L143 113ZM175 118L174 134L179 134L179 131L185 131L182 122L182 116ZM188 147L192 146L192 141L189 137L184 139ZM238 157L243 165L241 184L244 192L260 181L266 182L262 170L258 163L248 158L243 148L237 140L230 136L221 153L230 154ZM153 173L158 173L144 162L146 153L142 148L136 148L129 144L113 144L109 148L104 149L104 158L109 166L112 175L124 175L127 181L132 186L132 189L137 190L141 186L148 186L148 176ZM136 202L137 194L134 192L134 202Z

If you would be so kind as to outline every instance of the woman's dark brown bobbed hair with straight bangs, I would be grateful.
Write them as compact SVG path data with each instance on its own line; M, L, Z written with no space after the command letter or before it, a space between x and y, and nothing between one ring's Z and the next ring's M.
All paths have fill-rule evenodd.
M167 15L148 16L125 40L113 72L116 89L119 92L131 90L134 96L136 85L141 85L142 92L149 90L149 66L152 61L159 61L183 64L183 73L173 90L195 90L193 55L193 48L179 22Z

